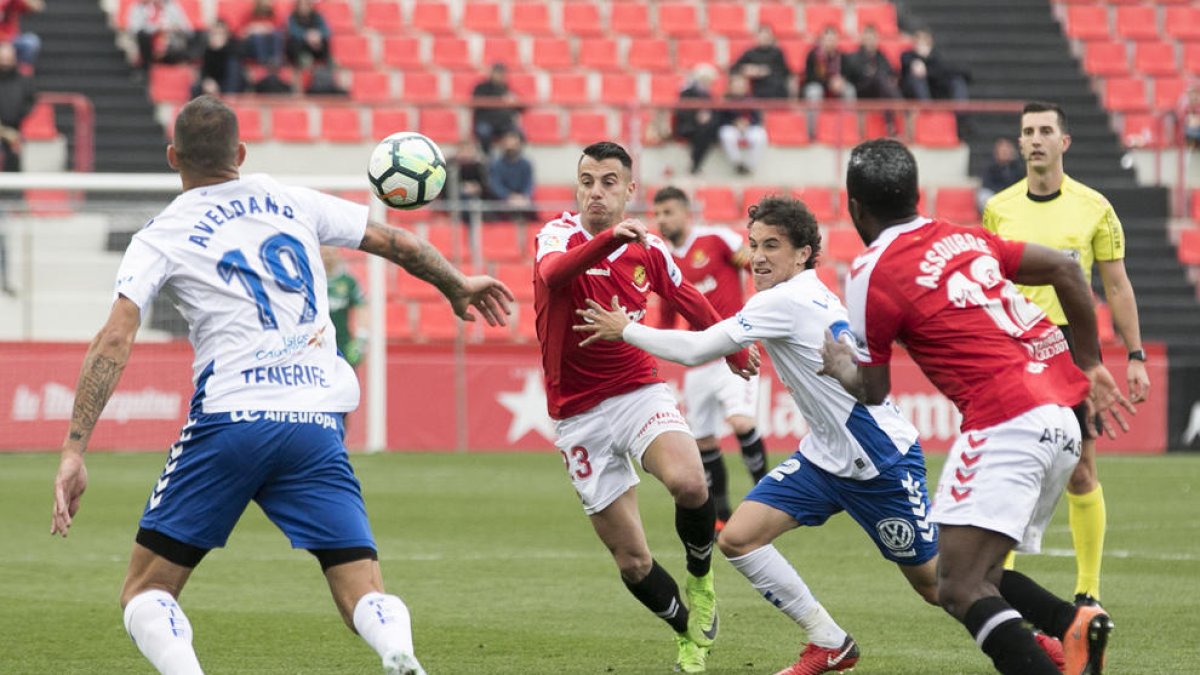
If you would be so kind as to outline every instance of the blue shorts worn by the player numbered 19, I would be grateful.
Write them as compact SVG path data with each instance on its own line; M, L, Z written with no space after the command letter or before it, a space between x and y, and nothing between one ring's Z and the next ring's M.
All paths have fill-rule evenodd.
M296 549L374 549L342 413L192 413L139 525L223 546L251 500Z

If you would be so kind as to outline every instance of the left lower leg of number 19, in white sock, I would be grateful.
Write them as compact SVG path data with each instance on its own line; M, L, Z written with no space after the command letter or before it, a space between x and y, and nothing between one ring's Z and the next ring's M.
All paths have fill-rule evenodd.
M203 673L192 649L192 625L176 602L191 575L191 567L133 544L121 589L125 631L158 673Z

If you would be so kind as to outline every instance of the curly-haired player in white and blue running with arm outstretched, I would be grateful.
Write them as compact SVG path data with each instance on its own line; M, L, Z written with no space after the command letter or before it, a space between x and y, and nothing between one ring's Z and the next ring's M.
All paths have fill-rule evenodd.
M936 604L937 528L928 518L924 456L917 430L890 401L864 406L838 381L818 375L826 329L850 324L812 269L821 249L812 214L790 197L766 197L750 208L749 239L758 293L733 317L703 331L660 330L592 303L580 311L584 323L576 330L592 334L584 342L624 340L684 365L762 341L811 431L746 495L718 543L733 567L808 633L799 661L781 673L841 671L857 663L858 645L772 542L845 510Z

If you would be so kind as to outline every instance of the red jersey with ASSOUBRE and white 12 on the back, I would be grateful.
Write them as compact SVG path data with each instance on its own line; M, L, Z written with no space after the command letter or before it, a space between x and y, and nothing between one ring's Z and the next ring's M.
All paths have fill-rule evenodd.
M1046 404L1074 406L1087 377L1062 330L1009 281L1025 244L978 227L917 219L884 229L851 265L851 325L864 365L899 341L962 413L983 429Z

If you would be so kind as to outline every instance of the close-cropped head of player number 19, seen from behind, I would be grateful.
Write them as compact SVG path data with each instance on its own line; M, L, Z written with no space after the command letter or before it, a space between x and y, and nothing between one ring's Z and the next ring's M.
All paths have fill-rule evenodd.
M236 168L238 115L216 96L197 96L179 110L170 143L190 172L214 175Z

